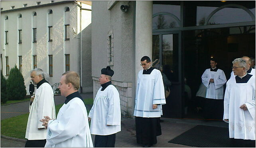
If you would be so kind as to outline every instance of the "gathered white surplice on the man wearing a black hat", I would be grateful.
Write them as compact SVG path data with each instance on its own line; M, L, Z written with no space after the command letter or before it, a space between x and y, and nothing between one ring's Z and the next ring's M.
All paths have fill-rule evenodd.
M112 84L103 91L101 89L102 87L98 90L93 101L93 107L88 115L91 118L91 134L115 134L121 131L119 93Z

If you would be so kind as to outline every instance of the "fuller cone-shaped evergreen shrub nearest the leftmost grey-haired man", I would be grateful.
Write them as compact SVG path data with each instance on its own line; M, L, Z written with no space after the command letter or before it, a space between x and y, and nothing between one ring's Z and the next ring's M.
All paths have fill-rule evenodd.
M20 70L15 65L7 79L7 96L9 100L22 100L26 96L26 86Z

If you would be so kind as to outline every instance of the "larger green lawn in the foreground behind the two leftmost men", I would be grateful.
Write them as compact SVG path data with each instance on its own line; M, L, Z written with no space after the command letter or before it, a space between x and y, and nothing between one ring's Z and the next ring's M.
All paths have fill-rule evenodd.
M93 98L84 99L84 101L86 102L85 104L93 104ZM63 104L55 105L56 117L62 105ZM87 113L89 113L88 110ZM1 135L25 139L28 115L29 114L27 113L16 117L1 120Z

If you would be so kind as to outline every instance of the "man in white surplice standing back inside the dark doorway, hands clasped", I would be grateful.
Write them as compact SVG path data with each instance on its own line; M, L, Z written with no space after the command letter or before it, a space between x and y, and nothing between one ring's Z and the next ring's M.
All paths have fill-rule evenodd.
M210 60L211 68L206 69L202 75L202 83L206 86L206 99L204 106L205 119L222 119L223 115L223 85L226 76L223 70L216 67L217 61Z

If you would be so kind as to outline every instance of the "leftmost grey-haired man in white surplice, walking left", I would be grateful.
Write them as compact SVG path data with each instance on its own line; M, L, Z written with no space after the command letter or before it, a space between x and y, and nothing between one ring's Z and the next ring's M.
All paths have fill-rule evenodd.
M30 115L26 129L27 142L25 147L44 147L47 130L39 121L44 115L55 118L55 104L53 99L53 89L49 82L45 80L45 73L40 68L31 70L30 78L36 84L37 90L30 100Z

